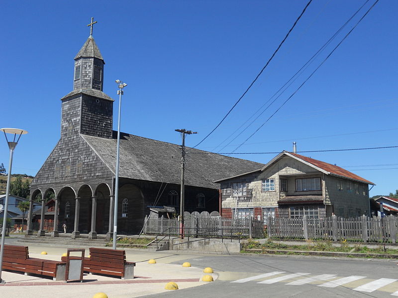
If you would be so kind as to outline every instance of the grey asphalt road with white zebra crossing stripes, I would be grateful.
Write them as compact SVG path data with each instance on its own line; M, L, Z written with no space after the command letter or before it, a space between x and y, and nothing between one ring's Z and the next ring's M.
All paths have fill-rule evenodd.
M218 280L203 287L151 297L395 297L398 267L392 261L277 256L200 256L192 266L212 267Z

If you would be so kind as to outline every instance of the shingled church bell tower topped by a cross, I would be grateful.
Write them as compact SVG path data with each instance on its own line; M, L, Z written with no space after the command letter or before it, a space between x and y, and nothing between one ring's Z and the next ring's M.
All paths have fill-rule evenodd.
M75 56L73 91L61 98L61 139L79 134L112 138L113 99L102 92L103 61L93 38L89 38Z

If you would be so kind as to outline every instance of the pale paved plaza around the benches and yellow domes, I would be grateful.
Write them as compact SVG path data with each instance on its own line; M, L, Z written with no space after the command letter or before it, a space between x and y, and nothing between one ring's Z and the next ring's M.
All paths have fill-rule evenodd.
M40 254L46 251L47 255ZM29 245L29 256L49 260L61 260L61 255L67 251L61 247L39 247ZM179 289L204 285L200 282L203 268L182 267L184 260L190 258L189 254L176 254L175 252L143 251L125 249L127 261L136 262L133 280L102 275L84 274L83 283L53 281L51 278L36 275L2 271L1 277L5 284L0 285L1 297L7 298L92 298L96 293L103 292L109 298L132 298L149 294L167 292L165 285L168 282L177 283ZM85 255L89 254L86 249ZM196 255L197 256L197 255ZM149 264L149 259L155 259L156 264ZM170 264L180 262L181 265ZM211 267L211 264L203 264ZM215 280L217 275L212 274Z

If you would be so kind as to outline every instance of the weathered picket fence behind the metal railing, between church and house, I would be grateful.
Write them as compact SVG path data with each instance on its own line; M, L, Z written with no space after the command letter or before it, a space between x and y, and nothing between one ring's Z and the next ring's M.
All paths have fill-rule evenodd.
M264 237L264 227L261 221L245 219L227 219L222 217L188 217L184 223L185 234L192 236L209 237ZM166 219L164 217L145 217L144 234L172 234L180 233L178 219Z

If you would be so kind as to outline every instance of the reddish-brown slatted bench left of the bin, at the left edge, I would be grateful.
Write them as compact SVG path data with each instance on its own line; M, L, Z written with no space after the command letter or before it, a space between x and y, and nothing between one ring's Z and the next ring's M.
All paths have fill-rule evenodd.
M54 281L65 280L66 263L30 258L27 246L4 245L2 269L50 276Z

